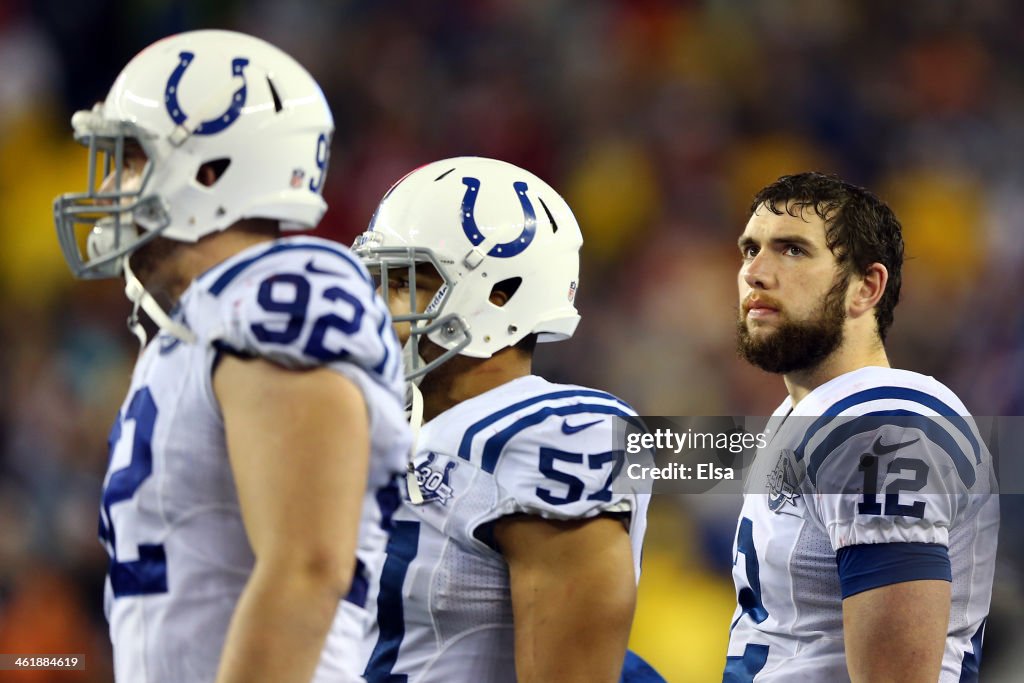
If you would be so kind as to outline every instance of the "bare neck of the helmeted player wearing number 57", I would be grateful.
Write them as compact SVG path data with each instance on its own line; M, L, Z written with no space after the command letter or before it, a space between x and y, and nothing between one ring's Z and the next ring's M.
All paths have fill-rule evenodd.
M489 358L459 355L427 375L423 392L423 420L532 372L532 358L516 348L505 348Z

